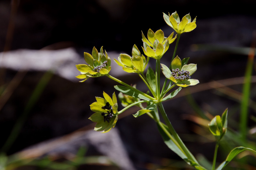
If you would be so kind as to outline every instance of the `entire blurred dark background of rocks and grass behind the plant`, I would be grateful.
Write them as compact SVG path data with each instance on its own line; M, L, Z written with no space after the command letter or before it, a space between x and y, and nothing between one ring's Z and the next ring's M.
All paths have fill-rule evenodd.
M80 74L75 64L85 63L83 53L103 46L112 59L110 75L143 91L140 78L122 71L113 58L131 55L134 44L142 52L141 31L171 34L163 12L174 11L180 18L197 17L196 29L181 35L176 54L197 63L193 78L200 81L164 103L174 128L209 166L215 144L207 123L228 107L228 135L217 162L236 146L255 150L254 51L248 60L256 42L255 5L254 0L1 0L0 169L189 169L164 144L154 121L132 116L136 107L121 114L110 132L93 131L89 105L103 91L118 94L116 83L75 78ZM161 63L170 64L175 42ZM153 69L154 62L149 61ZM230 167L256 169L255 154L240 154Z

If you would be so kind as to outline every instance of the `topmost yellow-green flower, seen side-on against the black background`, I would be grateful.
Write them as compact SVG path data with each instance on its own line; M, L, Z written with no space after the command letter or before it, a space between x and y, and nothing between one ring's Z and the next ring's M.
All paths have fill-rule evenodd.
M177 34L190 32L196 28L196 18L191 22L190 14L185 15L181 21L178 13L175 11L169 16L164 13L164 21L171 26Z

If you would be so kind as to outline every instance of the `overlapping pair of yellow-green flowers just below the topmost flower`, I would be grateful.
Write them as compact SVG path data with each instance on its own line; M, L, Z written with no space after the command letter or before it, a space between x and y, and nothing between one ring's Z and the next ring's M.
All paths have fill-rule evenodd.
M171 35L169 35L167 38L164 37L164 32L162 30L157 30L156 33L154 33L151 29L149 29L147 36L148 39L142 32L142 50L145 55L156 60L160 59L164 55L164 53L168 50L169 45L176 39L176 36L172 38L173 33L171 33Z

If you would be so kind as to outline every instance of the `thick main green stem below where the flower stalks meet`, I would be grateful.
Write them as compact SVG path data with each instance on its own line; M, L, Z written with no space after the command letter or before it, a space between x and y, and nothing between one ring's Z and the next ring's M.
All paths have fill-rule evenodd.
M162 102L158 103L157 107L159 108L160 113L161 113L162 117L164 118L164 122L166 123L166 125L167 125L168 129L170 130L172 136L174 137L174 139L178 142L178 144L182 148L182 151L184 151L184 153L186 154L188 159L190 159L190 160L192 160L192 161L194 161L194 162L196 162L198 164L196 158L192 155L191 152L189 152L188 148L185 146L185 144L182 142L182 140L180 139L179 135L177 134L177 132L173 128L170 120L168 119L168 117L167 117L167 115L166 115L166 113L164 111L164 107L163 107Z

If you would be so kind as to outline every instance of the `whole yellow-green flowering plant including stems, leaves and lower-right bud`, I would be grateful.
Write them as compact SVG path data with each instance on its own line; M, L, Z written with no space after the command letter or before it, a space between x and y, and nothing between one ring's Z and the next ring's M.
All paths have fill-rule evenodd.
M174 29L177 34L173 37L174 33L171 33L171 35L168 37L164 37L164 32L162 30L157 30L154 33L151 29L149 29L146 38L142 32L142 50L147 56L147 59L143 54L140 53L140 50L136 45L134 45L132 48L132 56L128 54L120 54L118 60L114 59L124 71L129 73L137 73L142 81L147 85L149 92L142 92L136 89L135 86L128 85L123 81L109 75L109 71L111 70L111 61L106 51L105 54L103 54L102 47L100 52L98 52L94 47L92 50L92 55L89 53L84 53L84 60L86 63L88 63L88 65L76 65L77 70L81 72L77 78L84 79L81 81L83 82L89 77L107 76L108 78L111 78L112 80L121 84L115 85L114 88L120 92L118 97L122 103L122 106L124 106L122 110L118 111L115 92L113 93L112 98L107 93L103 92L104 98L96 97L97 101L90 105L91 110L95 112L89 118L92 122L96 122L94 130L108 132L110 129L115 127L119 114L122 114L125 110L132 106L140 107L140 110L133 114L134 117L145 114L151 117L156 122L159 133L163 137L164 143L173 152L179 155L184 161L193 166L195 169L206 170L205 167L199 164L193 154L182 142L179 135L173 128L162 105L163 101L167 101L175 97L182 88L197 85L199 83L197 79L191 78L191 76L197 70L196 64L187 64L189 58L184 58L181 60L178 55L175 57L181 33L194 30L196 28L196 18L191 22L190 14L187 14L180 21L179 15L175 11L172 13L172 15L169 14L169 16L164 14L164 20ZM161 64L160 59L169 49L170 44L175 40L175 49L172 55L172 60L170 60L170 66L168 67ZM147 68L149 58L156 60L156 70L154 71L148 67L145 75L144 71ZM160 66L162 66L162 73L165 76L165 81L162 88L160 87ZM175 86L178 86L178 88L170 92ZM143 107L142 103L146 103L147 106ZM161 114L164 123L161 122L159 113ZM209 129L216 138L216 149L214 152L212 170L215 169L219 141L227 132L227 115L228 109L224 111L222 117L215 116L209 123ZM245 147L237 147L233 149L228 154L227 159L220 164L217 170L221 170L238 153L245 150L253 151L252 149Z

